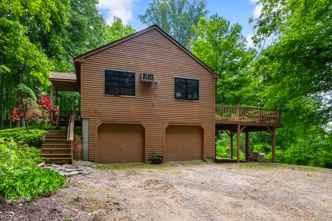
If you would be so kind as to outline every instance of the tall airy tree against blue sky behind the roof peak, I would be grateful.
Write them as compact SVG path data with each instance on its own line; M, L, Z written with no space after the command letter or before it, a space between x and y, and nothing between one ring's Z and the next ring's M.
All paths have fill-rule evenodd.
M196 39L192 26L198 25L199 19L208 14L205 6L204 0L154 0L149 3L145 14L138 18L147 26L158 25L190 49L190 41Z

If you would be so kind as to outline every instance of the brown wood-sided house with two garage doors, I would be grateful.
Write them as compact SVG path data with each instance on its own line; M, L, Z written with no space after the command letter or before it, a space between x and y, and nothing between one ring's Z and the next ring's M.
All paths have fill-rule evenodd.
M158 26L86 52L74 63L71 77L52 73L50 80L56 90L80 91L84 160L147 162L155 154L165 161L213 159L216 130L232 137L255 126L274 131L280 123L279 113L265 124L266 117L251 121L240 113L228 116L230 108L220 111L216 74ZM239 144L237 150L239 162Z

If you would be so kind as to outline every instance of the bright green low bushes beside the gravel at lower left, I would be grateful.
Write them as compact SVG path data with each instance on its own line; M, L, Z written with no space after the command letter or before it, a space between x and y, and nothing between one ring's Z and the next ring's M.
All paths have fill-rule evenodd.
M40 151L12 139L0 138L0 193L12 201L31 201L42 193L57 191L66 177L36 166Z

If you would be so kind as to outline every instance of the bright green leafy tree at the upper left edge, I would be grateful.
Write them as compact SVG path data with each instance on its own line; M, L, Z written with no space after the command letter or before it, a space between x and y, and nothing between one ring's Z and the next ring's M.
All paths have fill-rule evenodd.
M3 119L9 119L15 88L28 78L48 84L47 76L52 68L44 53L30 41L30 30L22 24L24 19L39 15L43 28L50 25L47 13L35 1L1 1L0 5L0 129Z

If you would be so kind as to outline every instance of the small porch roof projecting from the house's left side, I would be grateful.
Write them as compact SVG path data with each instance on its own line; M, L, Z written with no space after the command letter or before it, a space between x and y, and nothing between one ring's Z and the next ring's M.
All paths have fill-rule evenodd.
M79 91L76 74L51 72L48 79L57 91Z

